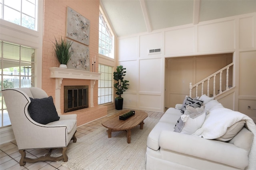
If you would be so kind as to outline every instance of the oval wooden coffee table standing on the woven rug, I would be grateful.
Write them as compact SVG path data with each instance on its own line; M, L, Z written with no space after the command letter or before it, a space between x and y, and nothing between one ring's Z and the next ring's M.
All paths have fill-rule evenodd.
M127 133L127 143L131 143L131 129L140 125L140 129L143 129L144 119L148 117L148 113L144 111L135 111L135 115L129 117L126 120L119 120L119 116L130 110L122 110L118 113L106 117L102 120L102 126L108 128L108 138L111 137L112 132L116 131L126 131Z

